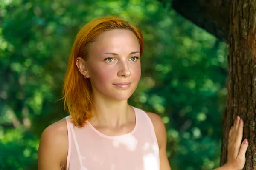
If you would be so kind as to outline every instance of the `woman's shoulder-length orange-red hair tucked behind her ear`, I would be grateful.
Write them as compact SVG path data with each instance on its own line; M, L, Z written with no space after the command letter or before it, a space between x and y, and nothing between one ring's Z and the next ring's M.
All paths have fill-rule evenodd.
M113 29L132 31L140 43L140 56L143 53L144 42L139 28L119 17L101 17L87 23L76 35L63 84L63 99L65 110L68 111L77 127L83 127L85 120L93 118L92 87L90 78L84 79L76 66L76 58L88 58L90 45L103 32Z

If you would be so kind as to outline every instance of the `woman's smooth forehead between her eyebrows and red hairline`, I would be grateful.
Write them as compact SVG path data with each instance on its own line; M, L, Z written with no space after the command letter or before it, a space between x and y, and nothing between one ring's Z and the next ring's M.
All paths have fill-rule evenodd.
M93 53L131 53L132 51L140 51L140 43L136 35L125 29L114 29L105 31L91 46L90 52Z

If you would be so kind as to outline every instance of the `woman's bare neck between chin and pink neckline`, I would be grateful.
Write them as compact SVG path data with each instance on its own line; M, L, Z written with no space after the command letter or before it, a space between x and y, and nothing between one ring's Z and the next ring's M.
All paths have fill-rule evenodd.
M104 97L94 96L93 109L94 117L90 121L92 124L119 127L128 122L131 115L131 107L128 105L127 100L113 100Z

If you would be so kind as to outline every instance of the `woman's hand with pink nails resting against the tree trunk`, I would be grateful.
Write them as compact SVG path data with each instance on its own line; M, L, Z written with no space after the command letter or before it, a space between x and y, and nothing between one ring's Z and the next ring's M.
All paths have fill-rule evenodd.
M234 126L231 127L229 132L227 163L224 165L224 167L228 167L228 170L241 170L244 168L248 140L244 139L242 142L243 127L243 120L237 116Z

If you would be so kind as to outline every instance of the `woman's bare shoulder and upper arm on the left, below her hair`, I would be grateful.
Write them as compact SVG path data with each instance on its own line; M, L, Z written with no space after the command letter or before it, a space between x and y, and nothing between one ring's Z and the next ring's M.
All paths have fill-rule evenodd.
M66 119L49 125L42 133L38 149L38 170L64 169L68 152Z

